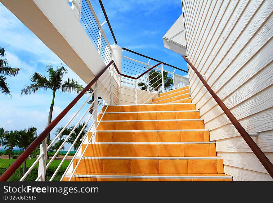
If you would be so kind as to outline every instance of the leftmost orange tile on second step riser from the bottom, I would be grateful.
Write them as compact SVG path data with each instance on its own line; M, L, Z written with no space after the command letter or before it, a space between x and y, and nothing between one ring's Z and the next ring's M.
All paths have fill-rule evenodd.
M74 162L74 168L76 164ZM103 159L82 159L76 172L102 173Z

